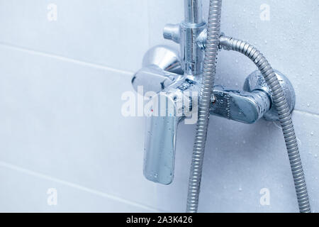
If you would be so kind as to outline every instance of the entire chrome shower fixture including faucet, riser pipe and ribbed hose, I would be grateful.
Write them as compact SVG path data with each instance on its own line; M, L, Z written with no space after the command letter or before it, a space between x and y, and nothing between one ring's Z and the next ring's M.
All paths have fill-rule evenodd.
M181 121L191 121L195 114L197 131L186 211L196 212L209 115L242 123L254 123L260 118L280 121L299 209L309 212L306 181L291 121L296 100L291 82L281 72L272 70L252 45L220 33L221 0L210 1L208 23L203 20L201 0L184 0L184 4L184 22L169 24L163 32L164 38L179 43L180 51L164 45L150 49L142 69L132 79L135 90L142 86L142 95L153 101L145 135L145 177L160 184L172 182L177 127ZM214 85L220 49L242 52L257 65L259 71L247 77L241 91ZM160 114L154 114L155 110Z

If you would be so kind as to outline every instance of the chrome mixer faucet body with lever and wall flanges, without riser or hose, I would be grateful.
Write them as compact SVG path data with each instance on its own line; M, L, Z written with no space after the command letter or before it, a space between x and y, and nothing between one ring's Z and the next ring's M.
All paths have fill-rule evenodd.
M145 177L160 184L170 184L174 177L178 124L182 120L187 121L187 113L196 115L197 111L198 101L194 101L194 94L199 92L201 86L200 75L185 74L184 69L189 62L184 65L182 62L176 50L156 46L147 51L142 69L132 79L135 91L138 92L138 87L142 86L144 94L141 95L153 94L148 98L157 99L157 112L162 111L162 115L147 116L144 154ZM191 72L196 67L187 69ZM292 112L296 100L293 86L281 72L276 71L276 76ZM272 102L272 91L262 74L255 71L245 79L242 90L215 85L210 114L249 124L260 118L278 121L279 116Z

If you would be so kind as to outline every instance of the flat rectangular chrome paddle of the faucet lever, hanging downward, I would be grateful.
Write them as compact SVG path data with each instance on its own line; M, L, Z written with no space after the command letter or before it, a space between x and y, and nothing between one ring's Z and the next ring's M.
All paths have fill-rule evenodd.
M152 116L147 116L146 120L143 172L152 182L170 184L174 177L177 126L181 117L176 114L177 108L173 99L165 95L156 97L159 96L160 114L154 110ZM165 104L162 103L163 98L166 99Z

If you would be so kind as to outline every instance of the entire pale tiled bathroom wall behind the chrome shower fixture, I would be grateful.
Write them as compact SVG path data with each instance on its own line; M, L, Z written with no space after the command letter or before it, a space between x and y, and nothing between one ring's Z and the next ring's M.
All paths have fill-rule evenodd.
M57 21L47 21L49 3ZM264 3L270 21L259 19ZM315 0L228 0L222 18L225 33L256 44L296 89L293 121L314 211L318 8ZM195 127L180 126L174 182L162 186L142 176L144 119L121 116L142 55L163 43L178 48L162 28L182 19L183 1L0 0L0 211L184 211ZM220 52L216 82L240 88L253 70L245 57ZM47 205L51 187L58 206ZM259 204L262 188L270 206ZM298 211L274 123L211 118L200 211Z

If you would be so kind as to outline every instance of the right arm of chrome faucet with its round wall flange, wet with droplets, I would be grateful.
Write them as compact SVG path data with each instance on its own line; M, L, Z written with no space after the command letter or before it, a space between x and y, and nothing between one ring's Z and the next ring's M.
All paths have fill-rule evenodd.
M284 89L291 113L296 102L292 84L284 74L274 71ZM262 117L267 121L279 121L273 104L272 90L258 70L245 79L243 91L216 86L213 89L213 95L211 105L213 115L242 123L254 123Z

